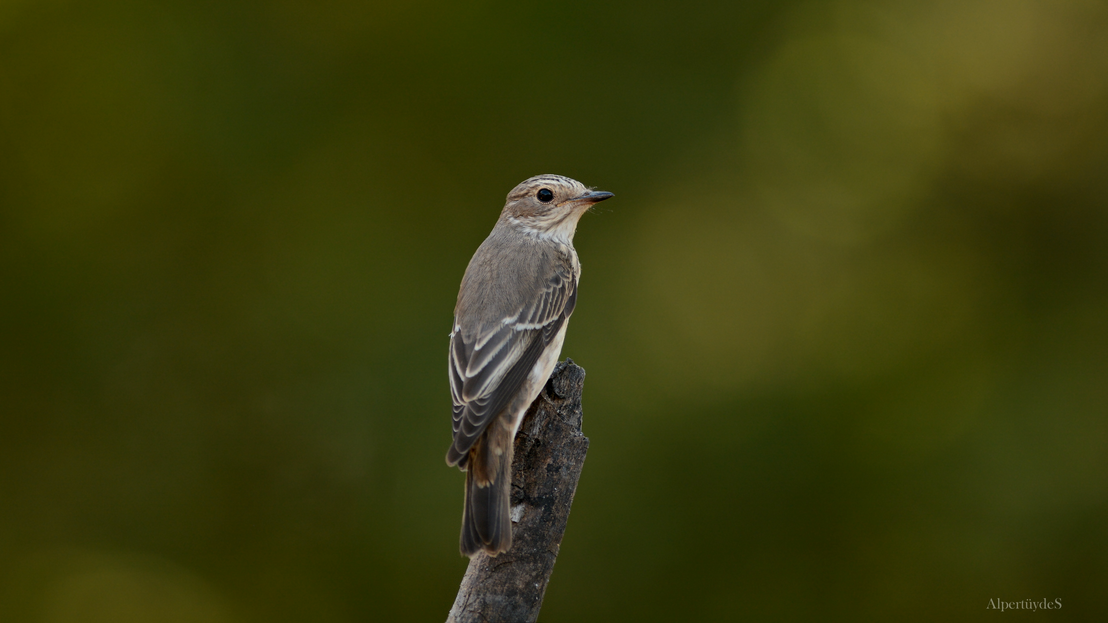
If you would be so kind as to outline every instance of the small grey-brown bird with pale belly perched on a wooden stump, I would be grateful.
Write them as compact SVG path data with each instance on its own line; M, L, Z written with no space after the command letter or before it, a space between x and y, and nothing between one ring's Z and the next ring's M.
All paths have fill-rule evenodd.
M612 196L561 175L524 180L465 268L450 331L447 451L447 464L465 471L464 555L512 547L515 432L557 362L577 300L577 221Z

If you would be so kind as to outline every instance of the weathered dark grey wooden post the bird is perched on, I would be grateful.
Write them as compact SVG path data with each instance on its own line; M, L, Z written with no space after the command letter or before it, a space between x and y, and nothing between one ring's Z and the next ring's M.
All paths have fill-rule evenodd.
M588 450L581 432L584 385L585 370L566 358L527 409L512 458L512 549L470 560L447 623L538 619Z

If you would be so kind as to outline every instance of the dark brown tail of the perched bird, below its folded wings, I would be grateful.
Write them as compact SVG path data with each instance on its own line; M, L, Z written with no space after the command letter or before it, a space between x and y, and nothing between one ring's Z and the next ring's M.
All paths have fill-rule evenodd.
M512 547L512 443L496 455L490 443L476 443L465 471L461 551L468 556L484 550L491 556Z

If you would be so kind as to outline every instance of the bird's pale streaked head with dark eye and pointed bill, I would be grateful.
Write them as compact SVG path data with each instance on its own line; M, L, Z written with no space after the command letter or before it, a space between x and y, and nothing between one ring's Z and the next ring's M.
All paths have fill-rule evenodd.
M613 196L562 175L535 175L507 193L501 218L527 234L572 241L581 215Z

